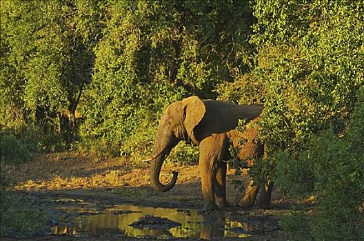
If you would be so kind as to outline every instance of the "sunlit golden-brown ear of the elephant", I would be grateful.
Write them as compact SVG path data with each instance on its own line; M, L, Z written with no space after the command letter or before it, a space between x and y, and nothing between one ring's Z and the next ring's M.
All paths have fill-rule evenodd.
M184 125L189 136L193 136L194 127L199 125L203 116L205 116L206 108L203 101L197 96L191 96L185 98L182 101L185 105L184 107Z

